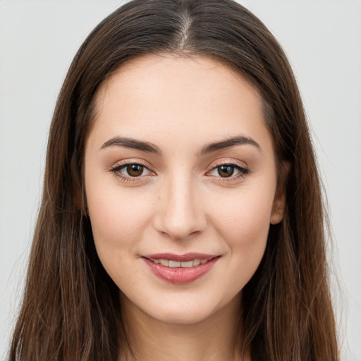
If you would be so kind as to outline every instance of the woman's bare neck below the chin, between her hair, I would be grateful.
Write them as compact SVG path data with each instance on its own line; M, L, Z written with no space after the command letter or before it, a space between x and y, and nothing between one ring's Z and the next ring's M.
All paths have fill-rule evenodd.
M122 314L132 353L120 360L250 361L240 355L240 296L212 317L195 324L161 322L142 312L124 295Z

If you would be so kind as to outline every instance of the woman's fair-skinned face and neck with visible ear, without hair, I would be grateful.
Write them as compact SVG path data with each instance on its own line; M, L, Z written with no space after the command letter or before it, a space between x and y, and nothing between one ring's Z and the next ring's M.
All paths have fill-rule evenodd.
M255 89L207 58L126 63L97 94L85 190L139 360L241 360L241 290L284 207Z

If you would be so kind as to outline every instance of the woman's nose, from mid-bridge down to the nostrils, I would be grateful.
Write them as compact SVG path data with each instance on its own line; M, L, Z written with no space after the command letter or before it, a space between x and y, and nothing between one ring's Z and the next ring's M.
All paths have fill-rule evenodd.
M159 193L154 228L172 240L183 240L204 231L207 225L200 192L190 177L175 175L164 181Z

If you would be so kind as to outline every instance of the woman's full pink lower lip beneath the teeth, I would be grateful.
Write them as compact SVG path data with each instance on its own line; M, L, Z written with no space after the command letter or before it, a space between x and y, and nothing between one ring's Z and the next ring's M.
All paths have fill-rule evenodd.
M190 283L199 279L200 277L207 274L214 264L219 260L219 257L213 258L207 263L200 264L199 266L194 267L166 267L163 264L157 264L152 261L149 261L147 258L143 258L149 269L155 274L159 279L167 281L169 283Z

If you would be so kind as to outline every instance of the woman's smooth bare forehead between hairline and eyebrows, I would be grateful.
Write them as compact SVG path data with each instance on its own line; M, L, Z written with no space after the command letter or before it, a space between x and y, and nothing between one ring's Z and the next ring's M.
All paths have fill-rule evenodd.
M89 138L99 142L121 135L179 146L192 140L201 147L241 133L269 138L255 87L232 68L204 57L133 59L102 84L95 104Z

